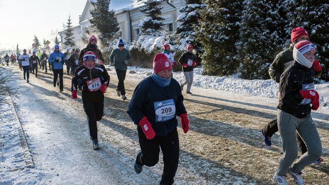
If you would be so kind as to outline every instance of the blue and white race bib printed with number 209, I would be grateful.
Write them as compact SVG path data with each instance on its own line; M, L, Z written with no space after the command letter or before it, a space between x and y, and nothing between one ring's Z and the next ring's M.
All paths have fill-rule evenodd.
M155 122L165 122L175 118L176 106L173 99L154 102Z

